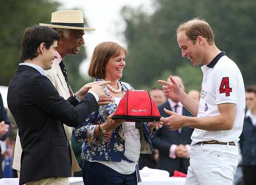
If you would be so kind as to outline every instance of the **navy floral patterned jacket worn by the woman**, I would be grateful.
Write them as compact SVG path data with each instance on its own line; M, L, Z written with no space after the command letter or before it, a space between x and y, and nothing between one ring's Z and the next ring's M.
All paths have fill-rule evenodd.
M100 81L101 79L95 79ZM122 89L126 92L133 89L128 83L121 82ZM105 95L113 97L107 86L103 87ZM117 109L115 101L108 105L100 106L98 110L90 114L84 123L75 128L74 134L78 141L83 141L82 157L87 160L115 161L120 162L124 156L124 132L122 124L107 133L100 135L94 139L94 129L99 124L105 123L107 116ZM155 129L149 132L147 123L142 124L140 129L141 153L151 154L153 147L150 138L155 134Z

